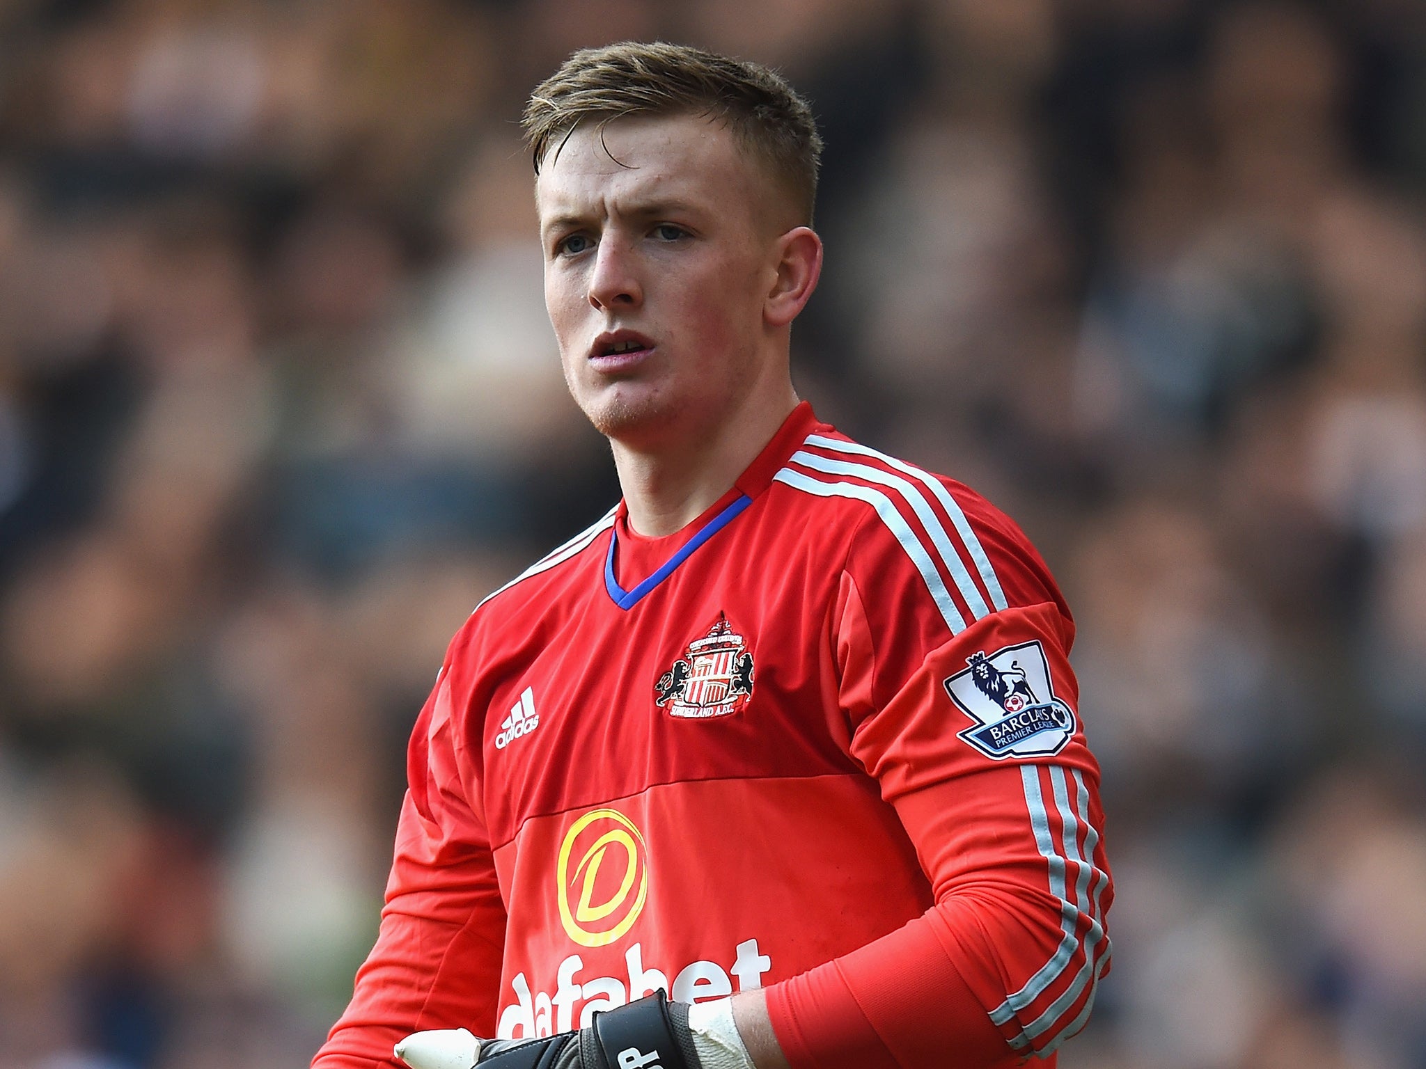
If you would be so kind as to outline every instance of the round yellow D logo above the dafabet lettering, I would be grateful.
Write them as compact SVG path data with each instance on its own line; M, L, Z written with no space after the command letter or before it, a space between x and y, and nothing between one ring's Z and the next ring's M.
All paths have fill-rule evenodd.
M576 845L582 852L570 872ZM559 919L570 939L603 946L633 926L649 897L647 851L633 821L617 810L593 810L569 825L559 844L558 879ZM572 884L579 884L573 909Z

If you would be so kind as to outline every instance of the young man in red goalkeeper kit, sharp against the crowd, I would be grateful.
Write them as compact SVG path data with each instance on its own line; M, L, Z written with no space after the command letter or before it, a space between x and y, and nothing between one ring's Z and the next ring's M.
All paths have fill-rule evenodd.
M451 644L315 1066L1052 1059L1112 899L1074 626L1014 523L799 403L807 105L619 44L525 123L565 376L623 500Z

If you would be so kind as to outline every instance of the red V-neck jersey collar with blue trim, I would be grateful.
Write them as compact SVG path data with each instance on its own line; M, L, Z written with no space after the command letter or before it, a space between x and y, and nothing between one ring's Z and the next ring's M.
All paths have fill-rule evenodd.
M807 435L819 428L830 429L817 422L811 405L806 401L799 403L789 413L787 419L783 420L783 425L773 435L771 440L753 459L753 463L737 477L729 492L696 520L666 537L642 539L635 534L629 529L629 506L620 500L619 509L615 513L615 525L609 532L609 552L605 556L605 590L609 593L609 599L626 611L639 604L663 580L672 576L684 560L707 543L709 539L737 519L753 503L753 499L771 485L773 476L787 463L787 459L803 443ZM649 550L657 552L662 546L672 546L663 563L655 567L646 579L635 584L632 590L625 590L619 586L617 579L616 564L620 532L629 544L639 547L639 556L643 556Z

